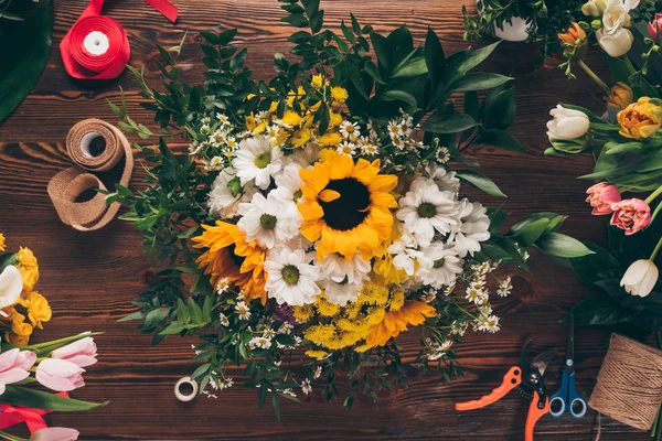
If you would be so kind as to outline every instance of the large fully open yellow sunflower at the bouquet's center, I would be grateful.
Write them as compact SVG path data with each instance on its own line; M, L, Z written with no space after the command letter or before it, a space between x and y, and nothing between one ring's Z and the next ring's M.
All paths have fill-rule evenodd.
M301 170L303 201L298 204L303 217L301 234L310 241L320 240L317 254L321 260L331 252L348 259L361 252L370 260L381 243L391 237L397 207L391 192L397 176L378 174L380 160L338 155L313 169Z

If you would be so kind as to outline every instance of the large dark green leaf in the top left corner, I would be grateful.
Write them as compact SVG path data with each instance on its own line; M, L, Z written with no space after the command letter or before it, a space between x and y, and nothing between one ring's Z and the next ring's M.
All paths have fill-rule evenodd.
M53 1L40 6L25 21L13 22L2 31L0 122L25 99L46 66L53 33Z

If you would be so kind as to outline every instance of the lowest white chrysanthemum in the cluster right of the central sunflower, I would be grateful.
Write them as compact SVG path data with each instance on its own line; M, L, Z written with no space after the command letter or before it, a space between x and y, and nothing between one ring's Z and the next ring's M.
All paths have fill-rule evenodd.
M424 283L441 289L455 283L462 272L462 259L458 256L452 244L434 243L423 249L421 266L417 278Z

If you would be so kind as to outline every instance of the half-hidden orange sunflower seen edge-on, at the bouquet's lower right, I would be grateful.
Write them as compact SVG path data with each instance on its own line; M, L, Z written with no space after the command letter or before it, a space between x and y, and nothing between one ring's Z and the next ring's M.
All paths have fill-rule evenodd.
M371 347L384 346L389 338L395 338L401 332L407 331L407 325L418 326L426 318L436 315L435 308L417 300L405 302L397 311L386 311L384 320L374 325L365 336L365 344L356 347L359 352L365 352Z

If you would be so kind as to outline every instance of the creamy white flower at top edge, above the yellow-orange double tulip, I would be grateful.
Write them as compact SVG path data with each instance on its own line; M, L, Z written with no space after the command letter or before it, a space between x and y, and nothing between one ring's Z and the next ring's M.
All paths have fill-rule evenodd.
M639 0L607 0L602 11L602 28L596 31L598 44L611 56L628 53L634 36L627 26L631 24L630 11L639 6Z

